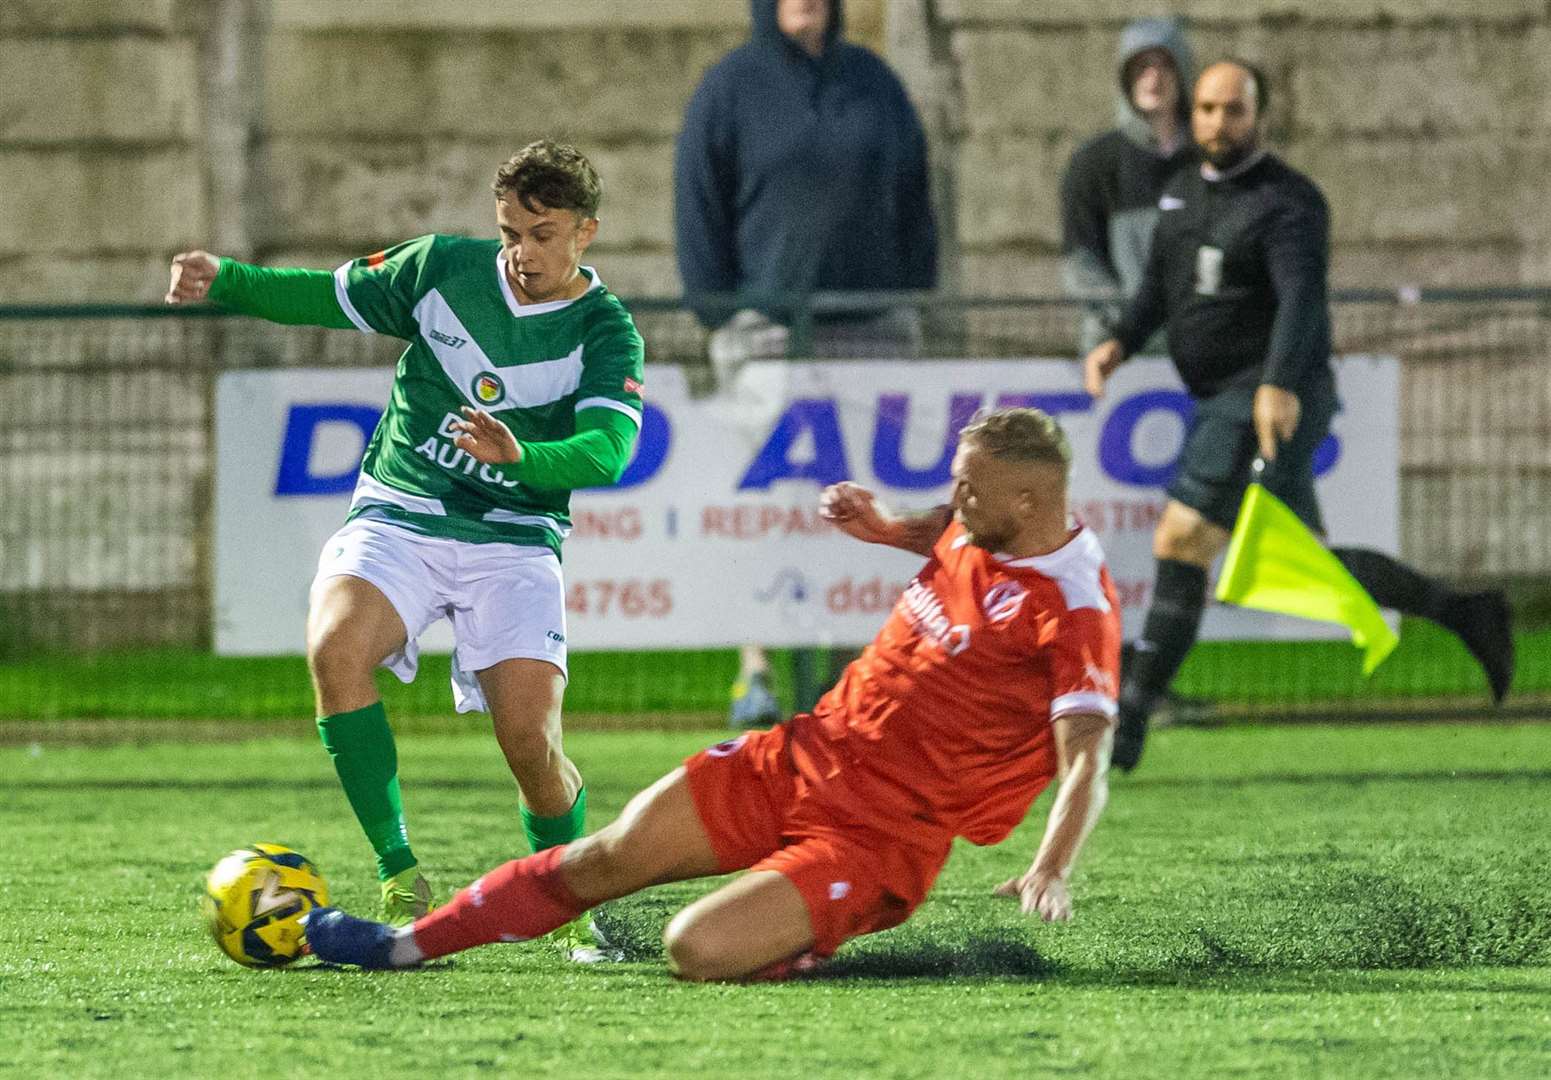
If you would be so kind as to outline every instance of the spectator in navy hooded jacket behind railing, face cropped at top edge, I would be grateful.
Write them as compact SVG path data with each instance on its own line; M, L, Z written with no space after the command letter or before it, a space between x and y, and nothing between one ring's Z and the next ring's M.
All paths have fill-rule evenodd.
M679 278L721 380L785 357L811 293L937 284L926 135L900 79L842 40L841 0L752 8L749 42L701 79L673 160ZM898 358L920 343L914 307L861 303L820 310L808 352ZM732 725L780 717L763 650L746 647Z

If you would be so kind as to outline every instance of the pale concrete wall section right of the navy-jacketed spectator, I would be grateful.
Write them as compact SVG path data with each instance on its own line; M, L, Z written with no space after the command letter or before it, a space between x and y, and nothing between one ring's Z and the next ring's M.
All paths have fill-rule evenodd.
M1197 56L1273 84L1275 146L1331 200L1345 286L1551 281L1551 5L1202 0ZM1056 185L1112 110L1120 25L1168 6L943 0L969 282L1056 286Z

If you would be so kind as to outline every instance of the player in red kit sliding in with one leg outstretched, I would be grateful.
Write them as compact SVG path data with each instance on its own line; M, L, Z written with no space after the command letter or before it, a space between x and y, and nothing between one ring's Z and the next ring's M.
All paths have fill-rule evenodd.
M927 562L811 714L695 754L600 832L506 863L411 926L323 908L313 953L409 967L746 869L673 917L668 962L689 979L782 976L904 922L954 836L999 843L1058 776L1033 863L996 892L1070 919L1067 878L1107 793L1120 610L1098 540L1067 515L1069 469L1055 421L1008 408L960 433L951 506L901 515L828 487L839 529Z

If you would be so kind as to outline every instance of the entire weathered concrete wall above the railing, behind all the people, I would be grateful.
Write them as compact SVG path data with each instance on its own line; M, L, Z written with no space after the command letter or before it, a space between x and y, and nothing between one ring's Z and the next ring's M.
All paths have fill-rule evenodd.
M1551 281L1551 2L1200 0L1204 57L1275 81L1278 146L1325 186L1348 286ZM934 140L948 279L1056 289L1056 186L1112 110L1118 0L850 0ZM333 262L490 231L532 137L605 183L596 256L678 290L672 140L741 0L6 0L0 303L154 299L174 250Z

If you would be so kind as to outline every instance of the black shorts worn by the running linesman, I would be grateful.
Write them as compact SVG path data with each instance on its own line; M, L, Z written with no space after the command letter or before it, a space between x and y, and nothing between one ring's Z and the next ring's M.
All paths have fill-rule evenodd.
M1227 389L1197 403L1185 433L1179 469L1168 495L1199 512L1213 524L1233 529L1259 456L1255 439L1253 388ZM1325 532L1320 500L1314 492L1314 452L1320 448L1335 416L1335 380L1320 377L1298 393L1298 428L1267 462L1261 483L1315 532Z

